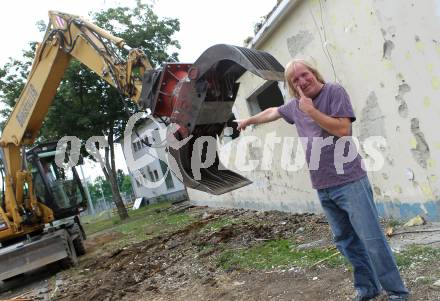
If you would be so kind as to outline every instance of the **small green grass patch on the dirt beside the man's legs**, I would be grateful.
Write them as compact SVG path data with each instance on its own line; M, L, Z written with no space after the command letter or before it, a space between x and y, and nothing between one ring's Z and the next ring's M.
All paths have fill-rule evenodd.
M295 247L296 245L289 240L272 240L246 250L226 250L220 254L218 261L226 270L230 268L266 270L275 267L310 266L337 252L319 248L298 251ZM339 266L344 265L345 260L339 254L323 264Z

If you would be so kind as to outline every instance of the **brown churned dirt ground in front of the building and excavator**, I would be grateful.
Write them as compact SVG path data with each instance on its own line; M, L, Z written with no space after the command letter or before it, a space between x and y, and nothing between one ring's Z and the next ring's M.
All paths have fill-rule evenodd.
M0 298L336 301L351 300L354 296L347 264L334 265L322 260L256 269L234 265L225 268L219 261L225 250L238 253L282 239L306 248L304 244L312 243L335 252L323 216L205 207L187 210L195 219L186 227L107 253L94 250L120 234L107 231L94 235L87 240L89 255L81 258L78 267L58 271L55 277L21 291L10 289ZM153 232L154 229L140 230ZM394 236L392 242L399 241L403 235ZM402 244L399 248L399 252L404 250ZM414 255L417 260L402 269L411 289L410 300L440 300L440 287L434 285L440 279L440 262L431 255L417 253ZM386 299L382 296L377 300Z

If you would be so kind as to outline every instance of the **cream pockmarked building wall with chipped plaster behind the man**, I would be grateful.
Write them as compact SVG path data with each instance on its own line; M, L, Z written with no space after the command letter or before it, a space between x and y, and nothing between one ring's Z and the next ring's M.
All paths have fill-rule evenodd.
M297 57L314 63L327 81L340 82L349 92L357 115L353 133L361 143L370 136L386 139L380 148L383 168L369 172L381 215L422 214L440 220L440 1L299 0L282 1L280 7L277 14L284 17L272 16L276 22L263 26L254 47L282 64ZM246 118L246 99L263 81L245 74L240 82L235 112ZM245 147L240 141L251 135L264 143L270 133L297 135L283 120L248 129L229 144L240 150L231 152L229 167L237 170L235 159L244 151L248 159L261 159L262 147ZM252 185L222 196L189 190L191 200L211 206L320 211L306 168L286 171L282 144L273 149L269 169L261 170L260 164L240 172ZM363 149L361 153L365 157Z

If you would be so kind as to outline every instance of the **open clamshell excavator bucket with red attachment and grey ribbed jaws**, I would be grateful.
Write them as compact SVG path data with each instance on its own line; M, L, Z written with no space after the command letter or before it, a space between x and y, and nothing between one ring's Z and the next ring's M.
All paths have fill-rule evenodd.
M283 66L269 53L224 44L208 48L192 65L165 64L144 75L140 104L156 116L168 116L177 125L171 133L177 141L188 140L169 148L186 186L218 195L251 183L226 169L217 150L212 156L208 143L194 148L198 139L212 141L222 134L233 116L237 80L246 71L269 81L284 79ZM194 160L203 168L194 170Z

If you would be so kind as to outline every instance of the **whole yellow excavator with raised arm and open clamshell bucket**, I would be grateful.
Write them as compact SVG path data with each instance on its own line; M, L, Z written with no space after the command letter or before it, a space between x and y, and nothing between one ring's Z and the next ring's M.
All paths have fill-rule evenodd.
M72 59L140 109L176 125L174 138L188 140L171 151L184 184L211 194L251 182L222 166L218 153L214 163L200 171L201 177L194 177L190 164L194 141L221 135L233 116L237 80L245 72L282 81L284 71L269 53L224 44L208 48L193 64L170 62L152 68L146 55L123 39L85 18L50 11L27 83L0 138L1 281L53 262L71 266L85 253L78 216L86 208L86 197L76 168L54 163L60 151L56 143L34 146Z

